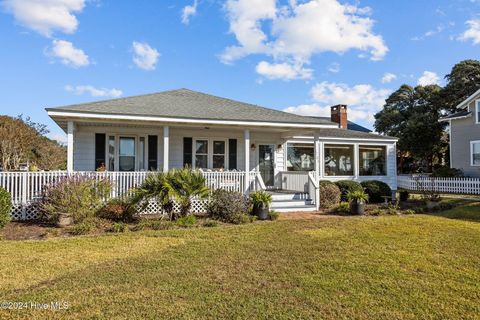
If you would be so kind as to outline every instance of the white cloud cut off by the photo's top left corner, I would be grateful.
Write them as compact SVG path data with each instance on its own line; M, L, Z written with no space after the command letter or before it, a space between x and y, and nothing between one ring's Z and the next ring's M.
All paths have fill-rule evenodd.
M82 12L85 0L4 0L2 5L19 24L50 37L54 31L77 30L75 14Z

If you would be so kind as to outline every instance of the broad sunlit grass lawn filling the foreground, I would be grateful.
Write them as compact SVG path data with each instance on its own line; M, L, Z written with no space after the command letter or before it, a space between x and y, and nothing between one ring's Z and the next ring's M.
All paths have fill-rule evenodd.
M480 318L480 203L345 217L0 241L11 318Z

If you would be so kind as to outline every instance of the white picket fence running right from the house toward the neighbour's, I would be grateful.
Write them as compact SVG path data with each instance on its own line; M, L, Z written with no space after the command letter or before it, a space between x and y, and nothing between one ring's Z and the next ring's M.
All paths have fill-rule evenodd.
M439 193L480 194L480 179L398 176L398 187L411 191L429 190Z

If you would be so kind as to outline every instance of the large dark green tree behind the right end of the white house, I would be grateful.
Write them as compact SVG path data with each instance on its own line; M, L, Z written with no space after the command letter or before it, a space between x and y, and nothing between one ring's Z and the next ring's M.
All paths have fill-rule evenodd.
M441 104L437 85L413 88L402 85L386 100L375 115L375 130L399 138L399 168L411 157L419 166L431 170L439 162L446 144L442 142L444 124L438 122Z

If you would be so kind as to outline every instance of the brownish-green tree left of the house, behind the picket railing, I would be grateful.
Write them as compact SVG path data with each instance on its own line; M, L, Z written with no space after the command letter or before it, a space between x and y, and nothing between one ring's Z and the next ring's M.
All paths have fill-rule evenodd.
M40 169L65 167L65 147L45 137L45 125L22 116L0 116L0 166L17 170L21 163L30 162Z

